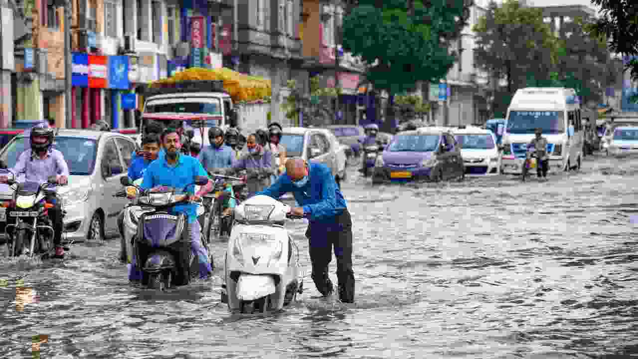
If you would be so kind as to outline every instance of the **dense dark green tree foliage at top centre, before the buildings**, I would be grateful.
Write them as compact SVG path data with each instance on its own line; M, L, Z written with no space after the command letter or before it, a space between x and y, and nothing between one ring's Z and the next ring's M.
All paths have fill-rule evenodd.
M369 66L375 89L404 93L419 80L438 82L454 61L450 37L464 26L463 0L359 0L343 20L343 48Z

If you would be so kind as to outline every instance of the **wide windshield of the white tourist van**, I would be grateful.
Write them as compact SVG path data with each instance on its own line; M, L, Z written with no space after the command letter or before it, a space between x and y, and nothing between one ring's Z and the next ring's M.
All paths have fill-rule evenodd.
M565 113L510 111L507 119L507 132L510 134L533 134L536 128L542 128L543 134L562 134L565 132Z

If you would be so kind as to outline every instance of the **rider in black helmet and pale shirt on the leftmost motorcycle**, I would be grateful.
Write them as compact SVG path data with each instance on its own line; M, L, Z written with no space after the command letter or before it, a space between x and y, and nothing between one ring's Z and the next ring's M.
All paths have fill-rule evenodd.
M30 181L37 183L47 182L48 177L57 176L57 183L66 185L69 176L69 167L64 160L64 155L55 148L52 148L54 139L53 128L41 125L31 129L29 143L31 149L24 151L18 157L11 172L20 181ZM6 183L6 176L0 176L0 183ZM61 201L55 192L47 191L47 203L53 204L53 208L48 209L48 217L54 230L53 243L55 247L54 257L64 257L64 249L61 246L63 233L63 215Z

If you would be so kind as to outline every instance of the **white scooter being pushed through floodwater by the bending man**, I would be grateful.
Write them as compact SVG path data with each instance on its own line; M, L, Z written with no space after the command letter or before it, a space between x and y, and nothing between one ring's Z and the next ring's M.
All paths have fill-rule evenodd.
M221 302L232 312L280 310L303 289L299 248L284 227L290 206L256 195L235 207Z

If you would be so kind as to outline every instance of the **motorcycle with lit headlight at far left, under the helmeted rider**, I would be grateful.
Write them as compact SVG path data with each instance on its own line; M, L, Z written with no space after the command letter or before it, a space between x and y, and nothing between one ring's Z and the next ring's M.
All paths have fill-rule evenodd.
M57 176L50 176L42 184L31 181L17 183L12 172L0 170L0 173L10 176L7 184L13 189L13 200L3 204L5 211L9 210L9 217L16 218L15 224L6 224L4 227L9 256L24 254L29 258L36 255L40 255L41 259L49 257L54 250L55 233L48 218L48 209L54 205L46 202L45 196L57 187ZM69 250L68 247L64 249Z

